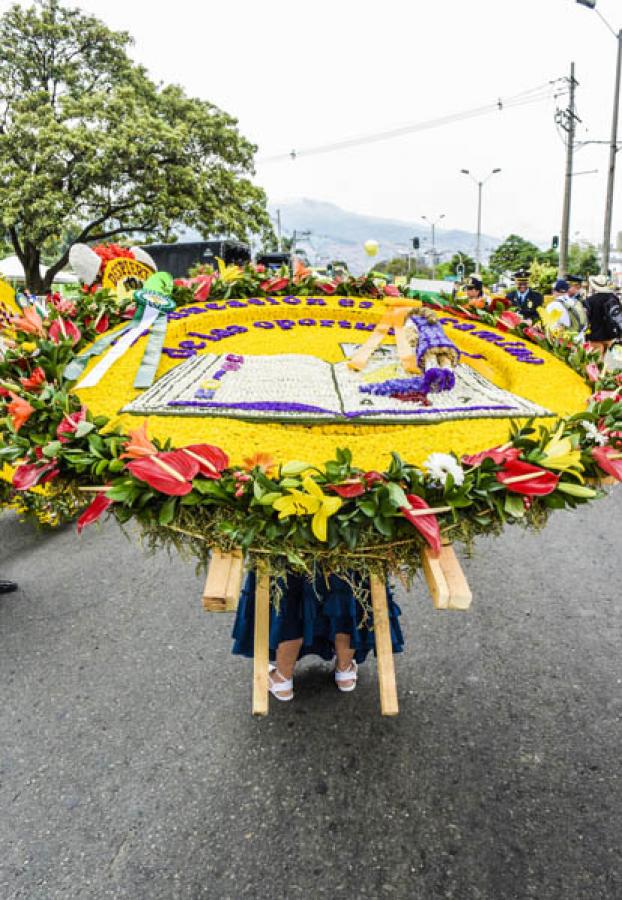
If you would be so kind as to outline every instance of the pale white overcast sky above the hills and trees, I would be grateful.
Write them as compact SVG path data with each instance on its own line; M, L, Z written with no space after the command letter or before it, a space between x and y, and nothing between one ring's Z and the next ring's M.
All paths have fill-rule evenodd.
M10 4L0 0L0 10ZM22 3L22 5L29 5ZM553 117L566 97L292 162L261 161L352 136L462 113L568 75L576 63L582 140L608 140L616 41L575 0L79 0L135 38L153 78L177 82L237 117L258 147L270 200L311 197L349 210L539 240L558 233L564 146ZM598 0L617 30L620 0ZM621 128L622 133L622 128ZM576 155L571 237L600 241L608 147ZM287 223L284 223L285 226ZM622 230L622 156L614 235Z

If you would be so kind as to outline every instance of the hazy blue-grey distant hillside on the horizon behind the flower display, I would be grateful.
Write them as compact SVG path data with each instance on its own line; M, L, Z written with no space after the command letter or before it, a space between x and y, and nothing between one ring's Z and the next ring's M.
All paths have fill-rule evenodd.
M280 209L283 234L291 235L294 229L312 232L309 239L299 243L308 250L312 261L321 264L331 259L344 259L354 272L369 267L369 259L363 250L363 244L369 238L380 244L378 259L396 256L400 250L412 247L413 237L420 239L423 252L431 246L430 228L425 222L411 224L397 219L364 216L348 212L333 203L306 198L271 203L269 208L272 216ZM438 251L453 253L461 250L473 255L475 242L476 236L471 232L436 229ZM487 258L490 250L500 243L499 238L482 235L483 258ZM441 257L447 258L448 255Z

